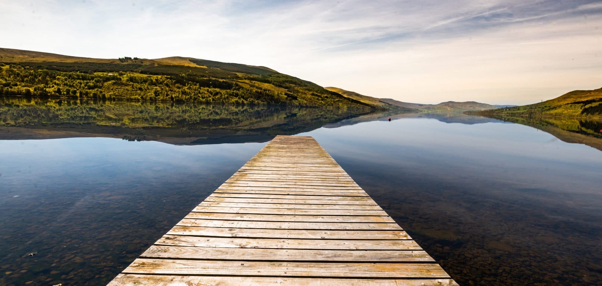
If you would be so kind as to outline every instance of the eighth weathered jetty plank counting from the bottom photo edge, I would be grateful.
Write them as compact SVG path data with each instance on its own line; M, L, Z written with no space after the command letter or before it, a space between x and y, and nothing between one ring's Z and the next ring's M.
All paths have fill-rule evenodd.
M293 216L387 216L378 210L295 210L290 208L244 208L244 207L205 207L197 206L197 213L234 213L234 214L286 214Z

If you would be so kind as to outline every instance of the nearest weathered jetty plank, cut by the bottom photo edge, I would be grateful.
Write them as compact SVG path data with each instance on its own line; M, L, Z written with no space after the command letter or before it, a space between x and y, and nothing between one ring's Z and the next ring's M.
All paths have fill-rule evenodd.
M457 286L452 279L352 279L352 278L300 278L300 277L258 277L258 276L174 276L120 274L108 285L196 285L196 286Z

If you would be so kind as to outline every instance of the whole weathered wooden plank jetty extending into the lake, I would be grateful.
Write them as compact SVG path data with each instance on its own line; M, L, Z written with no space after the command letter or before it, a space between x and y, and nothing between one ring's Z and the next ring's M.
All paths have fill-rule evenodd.
M312 137L276 136L108 285L458 285Z

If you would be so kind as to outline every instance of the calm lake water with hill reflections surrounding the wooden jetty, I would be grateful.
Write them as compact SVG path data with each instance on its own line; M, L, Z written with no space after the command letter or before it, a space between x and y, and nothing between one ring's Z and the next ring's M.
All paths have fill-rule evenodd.
M81 102L61 119L62 105L2 103L0 285L106 284L276 134L318 140L461 285L602 284L602 138L589 131L224 106L166 123L152 118L182 107L134 120Z

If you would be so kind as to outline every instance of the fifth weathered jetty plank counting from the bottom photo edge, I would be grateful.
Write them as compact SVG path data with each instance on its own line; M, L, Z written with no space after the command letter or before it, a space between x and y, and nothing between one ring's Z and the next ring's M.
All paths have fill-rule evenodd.
M197 235L205 237L253 237L253 238L303 238L346 240L394 240L409 239L405 231L326 231L308 229L261 229L261 228L204 228L200 226L174 226L169 235Z

